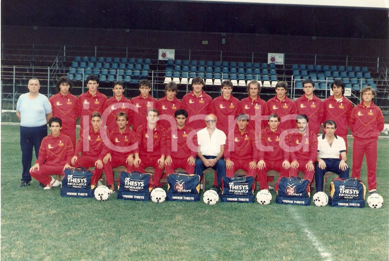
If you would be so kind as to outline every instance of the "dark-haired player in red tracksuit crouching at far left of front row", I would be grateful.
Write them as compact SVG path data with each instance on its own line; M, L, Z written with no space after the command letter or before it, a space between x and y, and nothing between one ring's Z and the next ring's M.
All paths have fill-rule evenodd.
M44 189L61 184L60 181L50 176L63 176L63 170L70 167L73 155L72 141L69 136L61 133L61 119L52 117L49 120L49 127L51 134L42 140L38 159L30 169L31 176L44 184Z

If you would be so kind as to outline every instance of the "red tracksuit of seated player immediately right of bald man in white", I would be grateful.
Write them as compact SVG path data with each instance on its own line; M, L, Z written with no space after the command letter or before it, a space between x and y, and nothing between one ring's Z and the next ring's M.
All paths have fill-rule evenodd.
M224 158L227 161L231 160L233 169L226 169L226 176L233 177L235 171L242 169L247 173L247 176L256 176L256 169L249 169L250 161L255 161L255 165L258 162L258 149L257 149L256 135L253 130L246 129L241 134L239 128L235 127L234 131L231 131L226 140L226 147L224 149Z

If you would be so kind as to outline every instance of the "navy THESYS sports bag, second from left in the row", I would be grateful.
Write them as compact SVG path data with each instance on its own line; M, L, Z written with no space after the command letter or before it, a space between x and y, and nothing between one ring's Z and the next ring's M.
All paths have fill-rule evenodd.
M118 199L149 201L153 188L153 174L122 171L118 182Z

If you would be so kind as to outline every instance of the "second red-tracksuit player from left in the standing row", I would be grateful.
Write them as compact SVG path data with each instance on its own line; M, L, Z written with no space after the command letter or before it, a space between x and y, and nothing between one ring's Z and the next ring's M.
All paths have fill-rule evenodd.
M82 93L78 97L78 104L81 110L81 121L80 121L80 133L85 123L90 121L93 112L97 111L103 113L104 103L107 100L105 94L100 93L97 89L99 86L100 79L94 74L87 77L88 91Z

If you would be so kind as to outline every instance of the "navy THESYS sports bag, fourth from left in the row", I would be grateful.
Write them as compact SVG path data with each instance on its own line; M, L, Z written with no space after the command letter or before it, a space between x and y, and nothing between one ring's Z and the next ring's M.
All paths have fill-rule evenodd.
M255 180L251 176L223 177L221 189L222 202L254 202Z

